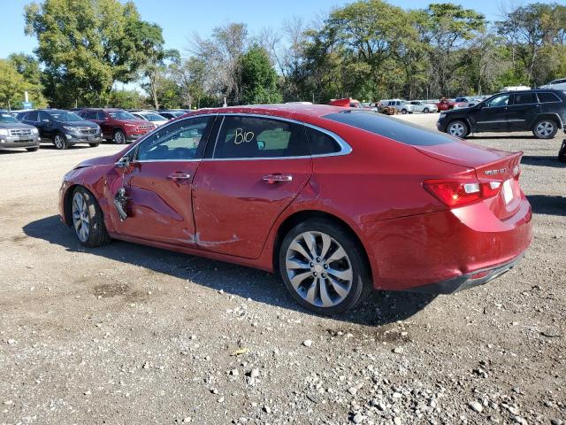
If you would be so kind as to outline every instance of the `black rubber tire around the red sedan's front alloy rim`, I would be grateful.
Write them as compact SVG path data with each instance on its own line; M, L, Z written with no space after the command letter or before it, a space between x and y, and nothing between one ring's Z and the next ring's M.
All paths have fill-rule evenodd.
M86 205L85 214L88 217L88 225L85 225L85 227L88 228L87 237L80 236L80 226L76 224L75 220L75 211L78 211L78 209L75 210L75 197L77 196L82 197ZM82 186L77 187L73 190L70 207L71 227L73 228L75 236L79 239L80 244L93 248L110 242L111 238L104 225L103 212L92 193Z

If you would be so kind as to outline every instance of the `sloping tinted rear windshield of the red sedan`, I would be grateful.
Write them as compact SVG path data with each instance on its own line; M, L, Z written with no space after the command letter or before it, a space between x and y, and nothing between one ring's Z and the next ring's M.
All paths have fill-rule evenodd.
M413 146L431 146L433 144L455 142L455 139L449 135L422 128L396 118L389 118L376 112L335 112L325 115L323 118L360 128L375 135L383 135L397 142Z

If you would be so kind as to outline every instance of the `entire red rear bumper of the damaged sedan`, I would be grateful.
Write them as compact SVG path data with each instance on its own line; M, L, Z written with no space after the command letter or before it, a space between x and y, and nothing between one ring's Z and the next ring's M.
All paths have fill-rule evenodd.
M451 293L493 280L532 241L531 205L523 194L517 202L516 213L505 220L478 203L363 224L374 288L419 291L436 285L437 293Z

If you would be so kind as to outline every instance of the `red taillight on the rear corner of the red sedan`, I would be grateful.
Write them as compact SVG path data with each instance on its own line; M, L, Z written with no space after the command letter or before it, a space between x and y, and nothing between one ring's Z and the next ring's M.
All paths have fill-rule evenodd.
M501 190L499 181L478 179L425 180L423 187L442 204L455 208L496 196Z

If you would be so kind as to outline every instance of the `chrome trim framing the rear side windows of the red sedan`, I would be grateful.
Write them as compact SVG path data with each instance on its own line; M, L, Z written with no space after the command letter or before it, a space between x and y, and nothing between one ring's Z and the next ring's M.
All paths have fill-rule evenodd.
M338 157L338 156L341 156L341 155L348 155L349 153L352 152L352 147L344 139L342 139L340 137L340 135L336 135L335 133L333 133L330 130L317 127L313 124L310 124L310 123L307 123L307 122L304 122L304 121L293 120L293 119L290 119L290 118L279 117L279 116L276 116L276 115L266 115L266 114L260 114L260 113L250 113L250 112L226 112L226 113L220 112L220 114L223 116L223 118L222 118L222 123L220 124L220 128L218 128L217 140L215 141L215 144L214 144L214 151L212 152L212 158L203 158L202 159L203 161L259 161L259 160L273 160L273 159L325 158L325 157ZM220 130L222 129L222 126L224 125L224 117L226 117L226 116L241 116L241 117L264 118L264 119L269 119L269 120L287 121L287 122L291 122L291 123L294 123L294 124L298 124L300 126L313 128L313 129L318 130L322 133L325 133L325 135L329 135L330 137L332 137L334 139L334 141L340 145L340 151L332 152L332 153L320 153L320 154L317 154L317 155L301 155L301 156L296 156L296 157L214 158L214 154L216 153L216 143L218 143L218 136L220 135ZM306 143L308 143L308 141Z

